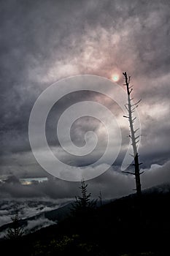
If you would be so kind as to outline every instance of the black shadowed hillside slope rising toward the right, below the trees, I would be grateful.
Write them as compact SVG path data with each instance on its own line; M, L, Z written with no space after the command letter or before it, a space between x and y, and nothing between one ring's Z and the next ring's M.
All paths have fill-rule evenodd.
M169 203L170 192L130 195L18 241L1 241L1 249L4 255L169 255Z

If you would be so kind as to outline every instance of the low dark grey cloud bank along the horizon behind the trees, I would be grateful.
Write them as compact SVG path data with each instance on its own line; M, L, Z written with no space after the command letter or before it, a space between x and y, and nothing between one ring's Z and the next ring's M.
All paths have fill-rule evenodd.
M151 165L150 169L143 168L142 188L166 184L170 181L170 162L164 165ZM115 166L107 170L106 173L93 178L88 183L88 190L93 197L98 197L102 192L104 199L128 195L135 187L134 176L124 175ZM18 183L2 183L0 185L1 198L6 195L10 198L52 198L61 200L73 200L75 195L80 193L80 182L63 181L58 178L49 178L38 184L22 185Z

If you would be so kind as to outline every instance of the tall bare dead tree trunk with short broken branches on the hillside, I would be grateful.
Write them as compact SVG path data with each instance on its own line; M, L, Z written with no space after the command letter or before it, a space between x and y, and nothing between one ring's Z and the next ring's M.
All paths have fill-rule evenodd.
M141 195L142 194L142 190L141 190L141 182L140 182L140 175L142 173L140 173L139 171L139 165L141 165L141 163L139 163L139 154L137 151L137 146L136 144L138 143L138 138L139 136L135 137L135 133L138 129L134 130L134 121L136 119L136 117L133 118L133 112L135 110L135 108L138 106L138 103L140 102L136 102L135 104L132 104L132 99L131 99L131 86L129 87L129 83L131 80L131 77L127 76L127 73L124 72L123 73L124 77L125 77L125 86L127 89L127 94L128 94L128 104L125 105L126 110L128 110L128 116L124 116L125 118L128 118L129 121L129 126L131 129L131 135L129 135L129 137L131 138L131 142L132 142L132 147L133 147L133 151L134 151L134 167L135 167L135 172L132 173L135 176L135 180L136 180L136 193L137 195Z

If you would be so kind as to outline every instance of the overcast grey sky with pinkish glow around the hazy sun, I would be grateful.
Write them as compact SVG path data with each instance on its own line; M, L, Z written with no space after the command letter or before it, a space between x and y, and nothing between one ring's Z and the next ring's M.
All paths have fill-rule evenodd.
M114 75L122 87L122 72L131 75L133 97L136 101L142 99L138 108L142 126L139 154L145 170L142 185L169 183L169 0L6 0L1 1L0 12L1 197L56 199L77 194L78 182L53 178L43 170L28 140L28 121L36 99L51 84L74 75L97 75L109 80ZM106 198L127 195L134 189L134 177L121 173L120 166L129 143L128 122L110 99L89 91L66 95L47 118L47 141L71 166L88 166L101 155L107 136L95 118L79 118L71 129L77 146L84 145L89 129L96 132L98 145L90 156L63 154L55 138L56 121L63 111L85 100L99 102L114 112L122 135L114 164L90 180L89 187L94 196L100 190ZM112 126L112 121L107 125ZM112 157L112 151L109 153ZM49 180L25 187L20 184L20 178L37 177ZM7 181L2 182L4 178Z

